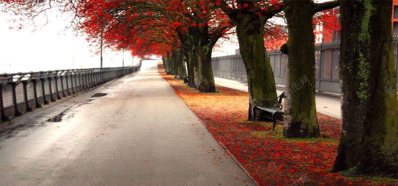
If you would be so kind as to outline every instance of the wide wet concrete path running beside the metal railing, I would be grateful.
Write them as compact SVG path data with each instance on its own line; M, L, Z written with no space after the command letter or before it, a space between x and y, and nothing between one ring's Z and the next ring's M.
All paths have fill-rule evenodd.
M156 64L2 128L0 185L255 185Z

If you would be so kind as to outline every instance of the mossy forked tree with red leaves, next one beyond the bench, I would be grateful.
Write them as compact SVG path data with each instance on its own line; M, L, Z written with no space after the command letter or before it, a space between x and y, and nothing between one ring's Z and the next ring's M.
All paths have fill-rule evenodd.
M189 83L200 92L215 92L211 53L217 40L232 27L231 21L210 1L175 0L172 3L173 9L185 20L179 19L182 24L176 28L184 44L185 55L189 55L186 56L189 75L192 76L192 71L195 74L194 79L190 77Z

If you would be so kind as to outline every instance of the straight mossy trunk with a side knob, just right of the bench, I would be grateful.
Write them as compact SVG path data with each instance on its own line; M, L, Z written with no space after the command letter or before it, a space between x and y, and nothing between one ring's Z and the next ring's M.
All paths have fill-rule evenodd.
M312 28L314 3L284 0L289 40L282 51L288 54L285 88L284 136L320 136L315 107L315 44Z

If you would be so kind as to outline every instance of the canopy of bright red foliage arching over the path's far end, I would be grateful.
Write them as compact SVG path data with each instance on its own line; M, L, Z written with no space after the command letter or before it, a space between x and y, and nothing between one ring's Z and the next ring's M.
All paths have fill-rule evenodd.
M134 56L162 55L180 48L179 34L205 28L211 35L228 32L230 20L212 2L156 0L91 0L80 17L79 28L89 40L116 50L131 50Z

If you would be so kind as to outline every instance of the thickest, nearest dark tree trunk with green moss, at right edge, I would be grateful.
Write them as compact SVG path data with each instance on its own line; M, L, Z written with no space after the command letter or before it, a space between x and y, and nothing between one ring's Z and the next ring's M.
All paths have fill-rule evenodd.
M342 131L333 172L398 176L392 1L340 1ZM397 90L395 90L397 91Z

